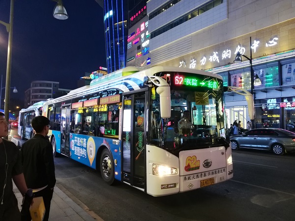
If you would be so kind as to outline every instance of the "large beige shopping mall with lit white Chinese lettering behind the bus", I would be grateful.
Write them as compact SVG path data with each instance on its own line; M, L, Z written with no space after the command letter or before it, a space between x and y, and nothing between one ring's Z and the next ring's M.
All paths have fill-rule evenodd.
M126 66L220 74L225 86L253 91L257 128L293 130L295 0L149 0L139 13L129 14L129 23L143 10L145 16L129 27ZM248 59L234 63L238 52ZM251 83L249 60L252 81L259 78L260 85ZM245 98L226 92L225 101L228 123L240 120L245 128Z

